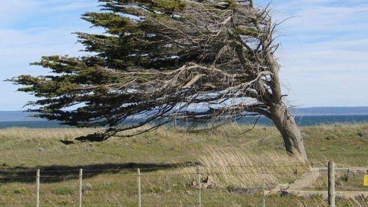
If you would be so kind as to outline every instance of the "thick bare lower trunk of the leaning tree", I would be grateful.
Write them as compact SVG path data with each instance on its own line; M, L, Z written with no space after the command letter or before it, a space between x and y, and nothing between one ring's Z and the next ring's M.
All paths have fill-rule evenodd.
M286 151L290 154L299 152L300 156L305 161L308 161L299 127L287 106L282 101L279 101L279 103L272 105L270 111L273 123L275 123L284 139Z

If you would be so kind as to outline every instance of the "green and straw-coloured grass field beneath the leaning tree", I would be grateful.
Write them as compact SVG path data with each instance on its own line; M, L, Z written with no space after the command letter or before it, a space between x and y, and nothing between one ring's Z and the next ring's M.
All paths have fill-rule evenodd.
M143 206L196 206L195 165L276 165L280 172L307 171L298 158L286 155L274 127L229 125L208 133L181 134L171 128L132 138L110 138L102 143L64 145L96 129L0 130L0 206L34 206L35 170L41 172L41 206L77 206L78 171L84 169L84 206L136 206L136 168L142 168ZM301 127L309 162L325 167L367 166L368 124ZM344 164L343 164L344 163ZM300 164L299 167L282 167ZM296 169L297 168L297 169ZM100 171L96 171L99 169ZM109 169L114 169L110 171ZM204 168L216 187L202 190L202 206L260 206L263 177L250 171L266 171L265 186L291 183L300 174L277 174L274 169ZM61 171L61 172L57 172ZM233 172L242 172L231 174ZM231 174L231 175L230 175ZM18 176L17 179L1 177ZM19 178L23 177L23 178ZM358 181L342 183L339 189L368 190ZM325 185L318 180L316 187ZM351 182L351 183L350 183ZM361 180L362 184L362 180ZM366 188L366 189L365 189ZM365 201L360 200L360 205ZM338 200L340 206L359 205ZM368 204L368 203L367 203ZM266 197L266 206L326 206L319 197L291 195Z

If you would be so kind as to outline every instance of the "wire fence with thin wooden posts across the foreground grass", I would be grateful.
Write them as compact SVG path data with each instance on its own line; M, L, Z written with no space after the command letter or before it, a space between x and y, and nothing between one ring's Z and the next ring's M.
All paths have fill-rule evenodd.
M314 163L315 165L326 164L323 162ZM328 182L330 183L331 176L335 179L335 170L330 165L326 168L310 168L311 164L293 164L282 166L268 165L226 165L226 166L191 166L190 172L183 171L179 168L171 168L171 172L166 172L170 169L163 167L152 168L124 168L122 169L68 169L68 170L45 170L38 169L36 171L22 171L24 175L6 175L0 177L0 182L34 182L35 192L32 193L34 200L22 202L15 200L12 206L43 206L44 204L53 205L52 201L47 198L45 187L49 182L57 182L60 180L68 180L72 187L52 190L56 195L67 195L69 200L73 200L72 204L78 206L98 206L97 203L91 203L84 198L101 197L100 194L108 193L113 199L106 198L102 203L111 206L333 206L330 202L335 202L335 185L318 186L304 185L303 183L291 183L286 185L277 185L272 183L270 179L275 176L289 178L295 176L296 179L314 178L315 174L328 173ZM196 168L194 171L193 168ZM155 174L152 171L155 170ZM164 170L162 172L161 170ZM134 172L136 171L136 172ZM6 171L2 171L5 174ZM20 172L18 172L20 173ZM33 174L33 176L31 175ZM260 179L258 185L249 185L241 176L254 175L253 177L245 177ZM230 177L231 179L230 180ZM182 183L183 185L167 184L170 182L159 183L160 178L168 179L169 181L177 178L191 178L191 183ZM225 183L219 185L217 182ZM270 178L269 178L270 177ZM91 186L89 179L110 179L119 180L118 183L103 182L99 185ZM136 180L135 180L136 179ZM241 180L242 185L226 185L226 183L234 183ZM315 179L315 178L314 178ZM281 179L282 180L282 179ZM309 180L306 180L309 181ZM249 180L249 183L254 183ZM313 182L309 182L313 184ZM335 183L335 182L333 182ZM160 185L162 184L162 185ZM273 184L273 185L270 185ZM32 184L33 185L33 184ZM43 185L45 187L43 187ZM117 191L123 192L123 198L115 196L112 190L115 186ZM0 186L1 187L1 186ZM1 189L1 188L0 188ZM40 191L41 189L41 191ZM211 190L217 190L215 193ZM42 191L43 190L43 191ZM65 191L65 192L64 192ZM313 199L299 199L294 197L293 201L285 201L283 197L275 197L272 194L287 195L293 192L308 192L319 191L325 196L315 197ZM91 193L93 192L93 193ZM176 193L174 193L176 192ZM178 192L185 192L182 196ZM226 192L218 193L218 192ZM297 193L298 194L298 193ZM92 195L92 196L91 196ZM119 194L121 196L121 194ZM233 195L234 198L227 200L226 196ZM217 198L213 196L219 196ZM221 197L222 196L222 197ZM0 204L2 194L0 193ZM71 203L58 203L55 205L68 205ZM104 204L104 205L105 205Z

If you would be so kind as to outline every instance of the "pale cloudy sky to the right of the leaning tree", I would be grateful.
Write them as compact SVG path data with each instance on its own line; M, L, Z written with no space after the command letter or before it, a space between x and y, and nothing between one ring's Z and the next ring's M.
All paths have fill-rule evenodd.
M363 106L368 94L368 2L274 1L285 22L280 40L282 80L292 103L302 106ZM284 90L287 92L287 90Z

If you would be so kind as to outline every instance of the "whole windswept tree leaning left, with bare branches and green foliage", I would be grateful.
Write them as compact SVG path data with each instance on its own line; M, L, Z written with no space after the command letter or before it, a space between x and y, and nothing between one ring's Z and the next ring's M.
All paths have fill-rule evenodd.
M11 79L34 94L39 117L107 126L79 141L103 141L150 123L211 130L244 116L271 119L286 150L307 159L283 101L274 56L277 26L252 0L100 0L82 19L104 34L76 32L90 56L44 56L47 76ZM74 106L75 110L63 110ZM134 134L124 135L132 136Z

